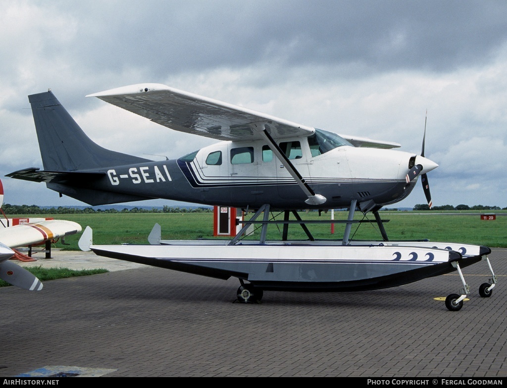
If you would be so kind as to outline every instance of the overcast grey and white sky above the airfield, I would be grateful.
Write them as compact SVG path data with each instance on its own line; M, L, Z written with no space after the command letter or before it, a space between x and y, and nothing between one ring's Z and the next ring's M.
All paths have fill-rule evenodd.
M173 159L213 142L85 98L147 82L417 153L427 110L433 204L507 206L504 1L0 0L0 55L6 203L84 205L4 177L42 168L27 95L48 88L106 148ZM423 203L418 182L396 206Z

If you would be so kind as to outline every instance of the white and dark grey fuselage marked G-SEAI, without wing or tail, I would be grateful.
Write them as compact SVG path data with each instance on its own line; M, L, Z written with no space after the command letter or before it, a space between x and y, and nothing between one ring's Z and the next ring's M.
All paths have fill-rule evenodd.
M306 137L277 143L315 193L326 198L312 208L347 207L351 200L392 204L408 196L416 182L406 182L416 158L413 153L358 148L345 140L318 147ZM87 182L87 188L204 205L308 208L305 193L262 140L222 141L178 160L105 167L100 172L105 176Z

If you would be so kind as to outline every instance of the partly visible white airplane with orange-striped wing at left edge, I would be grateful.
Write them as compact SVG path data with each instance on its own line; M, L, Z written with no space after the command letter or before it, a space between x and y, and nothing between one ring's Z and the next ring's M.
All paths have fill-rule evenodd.
M0 181L0 207L4 199L4 188ZM45 220L11 226L7 219L0 219L0 279L29 291L40 291L42 282L30 271L9 261L14 248L35 245L74 235L81 231L81 225L66 220Z

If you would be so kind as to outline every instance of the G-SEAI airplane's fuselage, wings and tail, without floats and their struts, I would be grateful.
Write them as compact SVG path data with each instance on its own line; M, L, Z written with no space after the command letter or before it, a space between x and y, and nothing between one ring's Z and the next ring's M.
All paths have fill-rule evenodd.
M46 182L90 205L162 198L238 208L269 203L273 209L336 209L356 200L361 211L376 211L406 198L417 175L437 167L422 155L389 149L400 146L394 142L342 137L164 85L92 96L173 130L222 141L163 162L106 150L48 91L29 96L44 170L7 176Z

